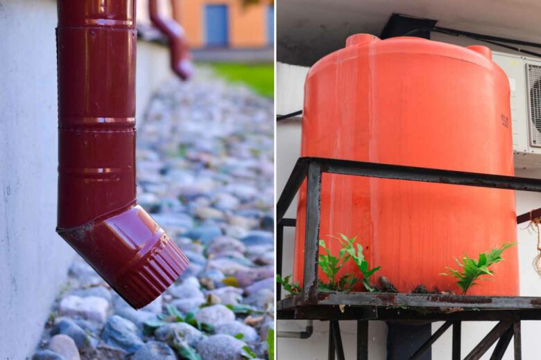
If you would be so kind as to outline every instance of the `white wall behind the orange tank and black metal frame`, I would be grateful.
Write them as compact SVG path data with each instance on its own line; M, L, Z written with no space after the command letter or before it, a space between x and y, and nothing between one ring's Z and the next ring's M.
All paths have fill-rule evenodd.
M450 37L438 37L440 41L445 39L452 42ZM461 45L464 40L461 39ZM308 68L278 63L276 67L276 93L277 93L277 114L287 114L302 109L304 96L304 78ZM285 182L296 159L300 154L300 119L286 120L277 124L277 195L280 196ZM541 171L516 170L516 176L541 178ZM517 192L517 214L526 213L533 208L541 207L541 195L532 192ZM295 217L296 201L291 205L286 217ZM519 240L519 262L520 262L520 294L522 296L541 296L541 279L533 271L531 266L535 257L537 235L526 229L523 224L517 231ZM292 273L293 265L293 238L294 231L286 228L284 231L284 260L283 273ZM278 321L277 329L287 331L299 331L304 328L303 321ZM441 323L434 323L432 331L438 329ZM462 336L462 357L472 350L490 330L495 323L465 323L463 324ZM328 324L314 323L315 332L311 339L277 339L277 357L280 360L309 360L326 359ZM355 335L356 326L354 322L341 322L343 332L343 344L346 359L354 359L355 356ZM538 334L541 332L541 323L535 321L524 321L522 323L522 350L523 359L538 359ZM370 322L369 326L369 357L370 360L386 359L386 325L381 322ZM512 346L508 348L504 359L513 359ZM490 351L483 359L490 358ZM451 359L451 332L433 345L432 359Z

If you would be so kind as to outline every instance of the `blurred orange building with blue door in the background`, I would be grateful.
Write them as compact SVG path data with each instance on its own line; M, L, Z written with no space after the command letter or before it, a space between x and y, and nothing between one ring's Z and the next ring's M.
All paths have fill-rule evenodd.
M271 0L173 0L173 17L191 48L266 48L274 44Z

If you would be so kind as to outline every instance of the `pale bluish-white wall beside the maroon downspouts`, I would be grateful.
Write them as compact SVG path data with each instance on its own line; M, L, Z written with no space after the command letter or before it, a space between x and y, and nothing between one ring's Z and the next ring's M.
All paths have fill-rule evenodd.
M0 360L31 355L74 255L55 233L56 22L56 1L0 0ZM141 118L169 63L138 55Z

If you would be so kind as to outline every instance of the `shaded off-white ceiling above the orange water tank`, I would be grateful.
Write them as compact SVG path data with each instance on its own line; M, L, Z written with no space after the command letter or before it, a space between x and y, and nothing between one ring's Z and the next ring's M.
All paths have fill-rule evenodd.
M354 33L380 35L393 13L438 26L541 43L541 0L282 0L277 59L311 65Z

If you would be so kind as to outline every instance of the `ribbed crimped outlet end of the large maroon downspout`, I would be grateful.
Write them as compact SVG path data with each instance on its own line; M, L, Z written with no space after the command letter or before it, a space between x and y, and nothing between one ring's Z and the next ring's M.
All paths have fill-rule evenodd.
M146 258L118 278L114 289L135 309L151 303L188 267L189 260L163 233Z

